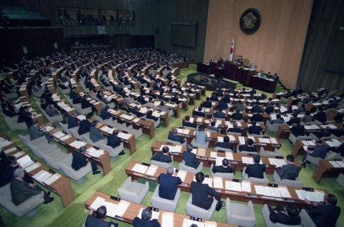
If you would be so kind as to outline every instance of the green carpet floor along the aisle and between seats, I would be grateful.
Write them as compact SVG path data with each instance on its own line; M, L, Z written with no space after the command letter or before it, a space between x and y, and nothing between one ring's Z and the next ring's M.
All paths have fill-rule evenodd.
M182 69L180 73L180 78L182 78L182 83L186 80L186 76L195 72L195 65L190 65L189 68ZM241 89L242 85L238 85L237 88ZM277 86L277 92L283 90L281 85ZM261 91L259 91L261 92ZM207 91L206 94L209 96L211 91ZM267 94L268 97L272 96L272 94ZM202 100L205 98L202 97ZM202 100L198 100L196 105L200 105ZM33 102L32 102L33 103ZM35 107L35 106L34 106ZM36 109L36 108L35 108ZM37 208L37 213L34 217L16 217L12 215L12 213L8 212L5 208L0 207L0 215L3 219L3 222L6 226L81 226L87 217L87 210L85 209L84 203L89 197L91 197L95 191L101 191L103 193L108 193L111 195L117 195L117 188L120 187L122 182L125 181L127 175L125 174L125 167L131 160L138 160L140 162L149 162L151 158L151 144L155 140L166 140L168 131L171 127L178 127L182 125L182 118L184 116L189 115L191 116L192 107L189 108L188 111L181 110L180 117L178 119L171 117L170 118L170 125L169 127L160 127L155 130L155 137L150 140L148 136L143 135L140 136L136 140L136 147L137 150L133 155L129 155L129 151L126 149L126 154L120 156L117 160L111 162L111 172L108 173L106 176L103 176L102 173L98 175L89 174L85 177L85 182L83 184L75 184L72 180L72 189L74 191L75 200L70 204L67 208L63 208L62 202L58 195L53 195L55 197L54 202L47 205L41 205ZM163 125L163 124L162 124ZM28 133L28 130L25 131L10 131L8 127L6 127L6 123L4 122L3 118L0 118L0 130L4 131L16 142L19 146L24 149L25 151L30 150L23 146L20 140L17 137L19 133ZM274 136L273 134L269 134L268 136ZM281 140L282 147L281 153L283 155L287 155L292 150L292 145L288 140ZM63 149L65 151L65 149ZM66 152L66 151L65 151ZM32 154L32 153L31 153ZM33 154L32 154L33 155ZM34 156L34 155L33 155ZM39 160L39 158L37 158ZM298 157L298 160L301 160L301 156ZM174 163L174 166L178 166L178 163ZM209 168L204 168L204 173L209 174ZM303 181L305 186L310 186L314 188L324 188L330 191L338 197L338 205L341 206L342 210L344 210L344 191L341 186L339 186L334 178L325 178L321 180L321 184L317 184L314 182L312 175L314 169L312 169L309 165L307 169L303 169L300 173L300 178ZM240 173L236 173L235 177L241 178ZM270 182L272 182L272 176L268 176L270 178ZM144 198L142 204L150 205L150 199L153 194L153 190L156 186L155 182L150 182L150 190L147 193L146 197ZM189 193L181 193L180 201L175 210L176 213L185 213L184 204L186 204L186 200L189 198ZM261 217L261 205L255 204L255 214L257 217L257 225L256 226L265 226L264 220ZM344 215L343 212L341 213L341 217L339 222L344 223ZM215 212L213 217L213 221L222 221L226 222L226 212L223 208L219 212ZM122 223L120 221L115 221L120 226L131 226L129 224Z

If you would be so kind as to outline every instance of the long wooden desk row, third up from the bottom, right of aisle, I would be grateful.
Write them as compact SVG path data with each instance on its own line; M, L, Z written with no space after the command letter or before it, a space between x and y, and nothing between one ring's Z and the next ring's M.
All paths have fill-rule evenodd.
M173 161L182 162L183 152L186 151L186 146L173 145L169 142L155 141L151 147L152 155L155 153L162 153L162 147L169 147L169 154L173 155ZM217 158L227 158L234 171L241 171L248 164L253 164L252 155L244 153L214 151L213 149L200 148L194 149L192 152L195 153L199 162L203 162L203 166L210 166L210 164L217 163ZM275 157L261 156L261 164L266 166L267 174L272 175L275 172L277 165L275 160L279 163L283 162L284 160L283 163L286 164L286 160L280 155L276 155ZM295 161L295 164L301 168L299 162Z

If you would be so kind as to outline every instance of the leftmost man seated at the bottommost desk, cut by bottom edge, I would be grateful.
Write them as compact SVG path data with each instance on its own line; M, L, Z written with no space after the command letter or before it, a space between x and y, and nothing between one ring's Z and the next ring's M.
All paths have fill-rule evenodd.
M100 206L96 212L89 210L85 227L117 227L118 224L112 221L105 221L107 217L107 208L105 206Z

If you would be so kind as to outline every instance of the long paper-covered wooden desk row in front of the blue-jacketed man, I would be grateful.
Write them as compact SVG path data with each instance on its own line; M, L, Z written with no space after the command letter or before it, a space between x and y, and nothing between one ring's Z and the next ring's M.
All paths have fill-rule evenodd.
M158 182L160 173L166 173L164 168L152 166L151 170L149 170L149 166L151 165L147 163L133 161L128 164L125 173L132 180L143 178L144 180L153 180L155 182ZM190 192L191 182L195 179L195 174L179 170L175 175L182 180L182 184L178 187L182 191ZM255 204L270 204L270 206L288 206L288 204L293 204L299 208L305 208L307 207L307 204L304 202L305 198L313 202L319 202L322 201L323 195L327 193L325 190L310 189L310 191L307 191L305 190L306 188L252 183L212 176L206 177L203 184L208 184L211 188L214 188L222 198L229 197L241 202L252 201Z

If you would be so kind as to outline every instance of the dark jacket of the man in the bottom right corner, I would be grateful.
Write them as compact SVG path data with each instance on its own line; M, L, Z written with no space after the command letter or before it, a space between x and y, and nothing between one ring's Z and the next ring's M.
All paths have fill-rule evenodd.
M308 206L309 214L316 226L332 227L336 225L336 221L341 214L341 208L330 204L319 206Z

